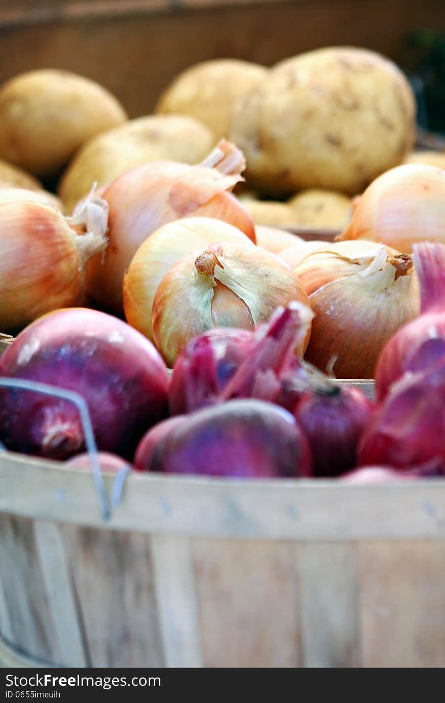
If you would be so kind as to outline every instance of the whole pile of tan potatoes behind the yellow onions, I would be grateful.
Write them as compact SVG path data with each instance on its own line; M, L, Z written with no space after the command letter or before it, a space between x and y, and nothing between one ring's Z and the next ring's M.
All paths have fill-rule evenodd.
M319 49L271 68L206 61L167 86L155 113L128 120L108 91L70 72L15 77L0 89L0 188L58 183L53 202L70 213L93 183L143 162L198 163L226 137L245 154L235 193L256 224L342 231L353 196L382 172L445 165L444 155L411 154L411 87L364 49Z

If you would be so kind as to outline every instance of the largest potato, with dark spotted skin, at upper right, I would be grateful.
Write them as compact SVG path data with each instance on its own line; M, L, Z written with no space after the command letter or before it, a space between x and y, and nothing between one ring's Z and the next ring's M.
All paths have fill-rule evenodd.
M414 117L413 92L394 63L331 47L273 67L233 105L230 136L245 153L247 181L264 193L354 195L403 162Z

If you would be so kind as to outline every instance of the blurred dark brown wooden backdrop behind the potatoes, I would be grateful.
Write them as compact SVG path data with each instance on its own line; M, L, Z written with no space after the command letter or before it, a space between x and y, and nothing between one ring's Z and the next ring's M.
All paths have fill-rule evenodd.
M352 44L403 62L409 32L444 24L444 0L0 0L0 81L37 67L73 70L135 117L200 60L271 65Z

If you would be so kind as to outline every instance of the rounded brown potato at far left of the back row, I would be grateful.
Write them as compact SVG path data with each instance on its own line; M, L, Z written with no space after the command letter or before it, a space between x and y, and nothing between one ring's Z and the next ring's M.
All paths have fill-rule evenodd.
M0 157L51 176L88 139L126 120L117 99L87 78L58 70L23 73L0 89Z

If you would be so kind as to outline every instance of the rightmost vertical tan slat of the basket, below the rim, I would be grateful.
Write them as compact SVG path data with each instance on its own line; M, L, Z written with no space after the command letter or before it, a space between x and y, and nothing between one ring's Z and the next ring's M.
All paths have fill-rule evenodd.
M364 666L445 666L445 540L359 545Z

